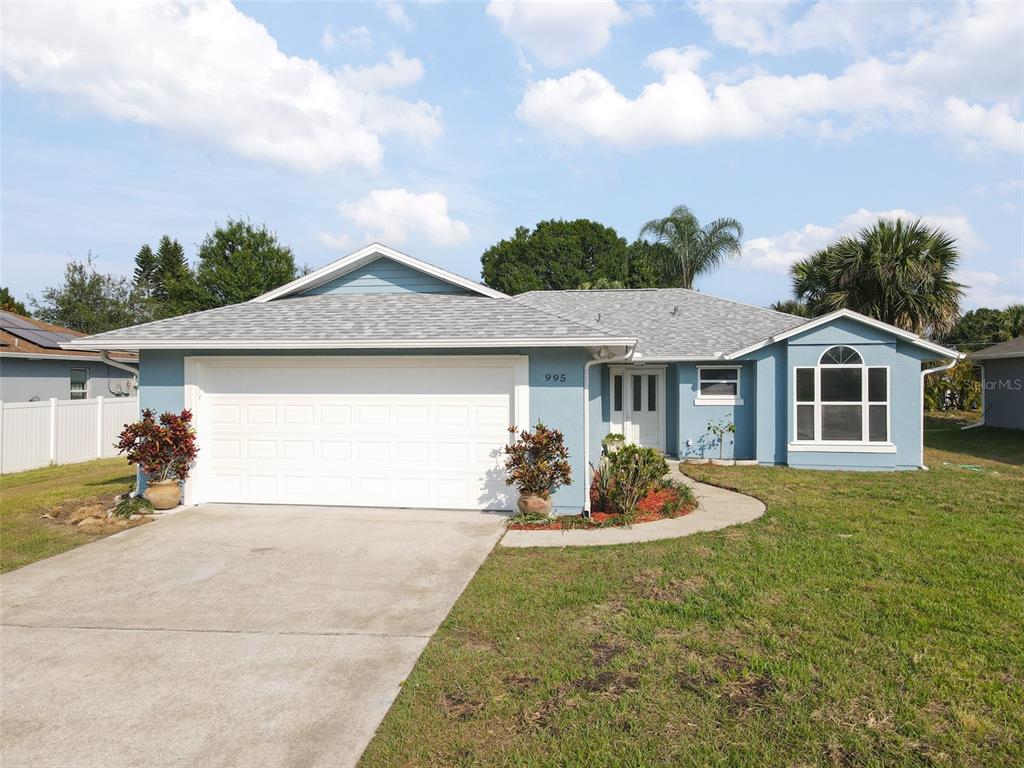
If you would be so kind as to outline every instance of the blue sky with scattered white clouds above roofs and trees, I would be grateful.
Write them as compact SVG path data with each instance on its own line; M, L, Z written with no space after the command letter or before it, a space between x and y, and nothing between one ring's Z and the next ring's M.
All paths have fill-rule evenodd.
M679 203L766 304L879 215L959 239L967 307L1024 301L1024 10L973 4L8 4L2 282L189 256L228 217L321 266L381 240L470 278L517 225L628 239Z

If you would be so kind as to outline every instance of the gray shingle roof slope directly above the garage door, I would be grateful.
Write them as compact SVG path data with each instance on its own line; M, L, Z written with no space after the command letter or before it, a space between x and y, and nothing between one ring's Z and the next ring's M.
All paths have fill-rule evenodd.
M625 334L630 339L635 336ZM608 343L607 331L538 311L508 298L451 294L334 294L298 296L265 303L232 304L205 312L156 321L88 337L77 342L146 348L154 343L211 342L254 346L264 341L287 344L358 342L382 346L431 340L498 341L537 338ZM385 342L388 342L386 344ZM485 345L485 344L484 344Z

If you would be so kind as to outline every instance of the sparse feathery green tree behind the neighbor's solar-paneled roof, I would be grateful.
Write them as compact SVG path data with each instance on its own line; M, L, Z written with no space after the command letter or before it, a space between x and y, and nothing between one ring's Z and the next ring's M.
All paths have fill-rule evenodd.
M90 252L83 261L70 261L63 282L30 297L36 317L86 334L132 326L144 318L142 297L127 278L96 271Z

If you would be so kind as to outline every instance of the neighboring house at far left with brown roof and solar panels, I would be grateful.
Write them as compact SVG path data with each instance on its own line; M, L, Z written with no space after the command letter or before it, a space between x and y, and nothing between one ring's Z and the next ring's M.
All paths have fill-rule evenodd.
M103 362L99 352L61 348L82 336L35 317L0 311L0 400L84 400L134 394L134 373ZM138 362L137 355L123 352L113 353L111 359L133 371Z

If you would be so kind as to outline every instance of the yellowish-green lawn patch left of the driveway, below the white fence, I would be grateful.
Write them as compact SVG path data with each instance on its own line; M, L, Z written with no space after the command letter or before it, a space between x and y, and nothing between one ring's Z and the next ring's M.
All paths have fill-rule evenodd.
M85 505L127 490L135 471L124 459L44 467L0 476L0 572L58 554L97 537L41 519L58 504Z

